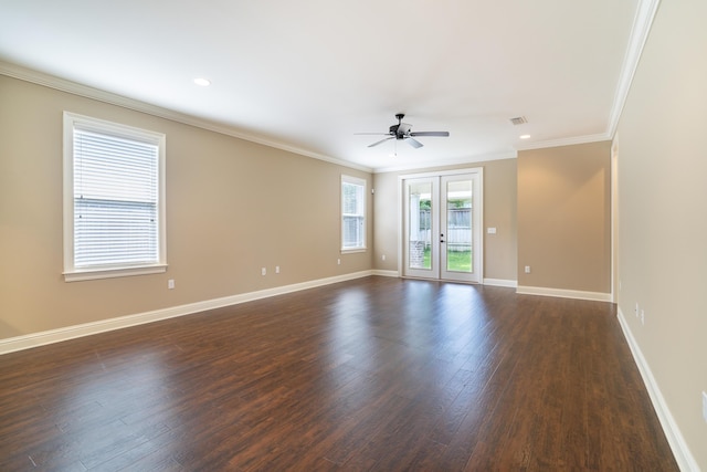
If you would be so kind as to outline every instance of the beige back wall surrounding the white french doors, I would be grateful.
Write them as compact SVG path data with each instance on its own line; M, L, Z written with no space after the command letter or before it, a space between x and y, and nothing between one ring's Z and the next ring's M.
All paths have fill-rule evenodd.
M469 162L460 166L426 168L419 171L381 172L373 176L376 188L374 266L398 271L399 177L460 168L484 168L484 227L495 227L496 234L484 231L484 277L516 280L516 159ZM386 261L382 261L382 255Z

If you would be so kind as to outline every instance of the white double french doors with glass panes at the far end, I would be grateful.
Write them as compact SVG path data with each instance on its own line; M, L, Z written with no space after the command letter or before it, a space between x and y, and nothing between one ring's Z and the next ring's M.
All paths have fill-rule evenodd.
M403 178L403 275L482 282L482 169Z

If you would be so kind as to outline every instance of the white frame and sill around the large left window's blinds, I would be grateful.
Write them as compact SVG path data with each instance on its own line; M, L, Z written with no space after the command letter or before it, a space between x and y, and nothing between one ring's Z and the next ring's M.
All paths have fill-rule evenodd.
M74 129L82 129L154 144L158 147L157 168L157 255L150 263L96 264L76 268L74 260ZM166 224L166 147L167 138L162 133L136 128L75 113L63 115L63 222L64 222L64 281L75 282L95 279L122 277L156 274L167 271L167 224Z

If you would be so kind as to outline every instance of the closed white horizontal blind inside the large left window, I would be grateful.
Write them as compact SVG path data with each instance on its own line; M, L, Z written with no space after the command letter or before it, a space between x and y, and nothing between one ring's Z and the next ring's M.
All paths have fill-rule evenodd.
M74 265L155 263L156 145L74 128Z

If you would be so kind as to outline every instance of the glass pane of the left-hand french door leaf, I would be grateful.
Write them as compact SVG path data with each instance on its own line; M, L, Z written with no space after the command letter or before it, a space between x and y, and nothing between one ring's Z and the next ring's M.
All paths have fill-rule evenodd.
M430 255L432 238L432 183L412 182L410 183L408 208L408 266L410 269L432 269Z

